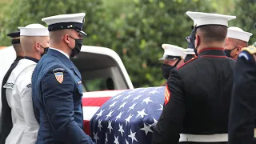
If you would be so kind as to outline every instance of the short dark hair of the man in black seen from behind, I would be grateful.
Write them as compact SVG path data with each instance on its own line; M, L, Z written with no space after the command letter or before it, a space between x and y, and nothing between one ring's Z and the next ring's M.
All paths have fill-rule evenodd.
M221 25L199 26L197 34L202 36L203 42L224 42L227 34L227 27Z

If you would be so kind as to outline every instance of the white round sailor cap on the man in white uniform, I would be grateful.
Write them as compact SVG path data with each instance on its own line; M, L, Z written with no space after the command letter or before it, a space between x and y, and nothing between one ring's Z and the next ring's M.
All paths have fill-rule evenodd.
M20 36L49 36L49 31L47 30L47 27L42 26L38 23L30 24L25 27L18 27L18 29L20 30Z

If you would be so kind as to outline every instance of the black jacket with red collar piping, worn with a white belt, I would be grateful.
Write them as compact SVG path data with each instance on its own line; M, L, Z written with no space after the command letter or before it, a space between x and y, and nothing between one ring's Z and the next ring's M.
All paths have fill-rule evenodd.
M209 48L172 70L167 81L170 100L154 129L152 143L177 144L179 134L227 135L234 66L235 61L227 58L222 48Z

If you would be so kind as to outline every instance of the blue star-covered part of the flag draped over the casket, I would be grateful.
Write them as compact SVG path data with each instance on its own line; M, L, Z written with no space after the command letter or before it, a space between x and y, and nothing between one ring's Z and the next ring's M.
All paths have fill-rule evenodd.
M97 144L151 143L162 114L165 87L126 90L105 102L90 120Z

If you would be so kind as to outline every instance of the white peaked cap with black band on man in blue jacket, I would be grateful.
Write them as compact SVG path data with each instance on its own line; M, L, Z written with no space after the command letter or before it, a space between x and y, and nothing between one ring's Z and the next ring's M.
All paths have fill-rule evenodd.
M87 34L82 31L85 16L85 13L61 14L42 18L42 22L46 22L49 31L74 29L82 36L86 36Z

